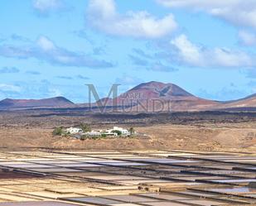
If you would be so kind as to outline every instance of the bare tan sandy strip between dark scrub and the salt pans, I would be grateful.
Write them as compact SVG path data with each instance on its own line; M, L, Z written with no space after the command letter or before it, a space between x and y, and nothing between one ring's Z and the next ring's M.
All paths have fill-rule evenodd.
M80 141L72 137L53 137L51 128L0 127L1 147L47 147L66 149L183 149L207 151L254 151L256 122L234 124L135 127L147 137L108 138Z

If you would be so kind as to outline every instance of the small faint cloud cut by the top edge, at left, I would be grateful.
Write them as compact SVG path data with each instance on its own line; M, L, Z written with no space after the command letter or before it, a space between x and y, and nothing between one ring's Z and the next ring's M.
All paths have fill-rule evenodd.
M32 4L38 12L42 13L56 10L63 6L60 0L34 0Z

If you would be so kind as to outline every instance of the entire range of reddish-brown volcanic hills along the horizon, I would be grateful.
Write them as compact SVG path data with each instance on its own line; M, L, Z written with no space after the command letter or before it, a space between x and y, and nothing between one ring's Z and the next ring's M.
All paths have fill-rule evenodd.
M93 110L99 112L99 106L107 106L105 111L117 112L177 112L177 111L256 111L256 94L246 98L227 102L218 102L199 98L176 84L162 82L148 82L139 84L117 98L101 98L92 103ZM44 99L11 99L0 101L0 109L26 108L89 108L89 103L75 104L64 97Z

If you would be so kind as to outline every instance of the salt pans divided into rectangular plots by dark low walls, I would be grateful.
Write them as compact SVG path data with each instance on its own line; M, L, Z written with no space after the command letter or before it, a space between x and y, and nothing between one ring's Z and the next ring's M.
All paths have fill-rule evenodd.
M41 149L1 158L0 206L256 204L255 153Z

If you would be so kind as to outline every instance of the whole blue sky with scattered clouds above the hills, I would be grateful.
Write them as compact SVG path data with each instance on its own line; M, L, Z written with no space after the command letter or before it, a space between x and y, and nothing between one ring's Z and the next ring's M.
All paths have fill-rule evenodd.
M201 98L256 93L256 2L2 0L0 99L87 101L147 81Z

